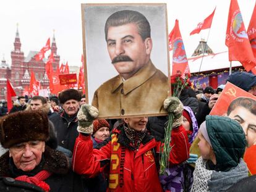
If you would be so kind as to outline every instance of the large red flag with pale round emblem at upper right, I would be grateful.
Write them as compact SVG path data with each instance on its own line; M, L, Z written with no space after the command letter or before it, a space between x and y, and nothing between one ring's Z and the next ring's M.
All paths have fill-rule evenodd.
M231 0L226 31L229 61L239 61L249 72L255 67L254 54L246 33L237 0Z

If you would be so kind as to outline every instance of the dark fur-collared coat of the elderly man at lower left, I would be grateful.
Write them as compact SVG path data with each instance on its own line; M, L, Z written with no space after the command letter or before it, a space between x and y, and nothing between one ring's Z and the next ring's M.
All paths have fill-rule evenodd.
M32 172L27 173L26 175L32 177L41 170L47 170L48 172L51 172L52 175L48 177L44 182L49 185L51 189L50 192L83 191L83 185L80 176L70 170L69 161L67 160L66 156L62 154L62 152L55 151L54 149L46 146L42 159L44 159L42 160L43 162L41 161L40 165L38 165L34 170L32 170ZM22 170L17 170L17 168L12 167L15 167L15 165L12 159L10 159L8 151L0 158L0 177L16 178L26 173L22 172ZM16 190L16 187L19 188L19 190ZM22 191L22 189L27 190L27 188L27 191L36 191L33 189L36 187L29 185L28 183L14 181L11 179L2 179L0 182L1 191L7 191L7 188L10 191Z

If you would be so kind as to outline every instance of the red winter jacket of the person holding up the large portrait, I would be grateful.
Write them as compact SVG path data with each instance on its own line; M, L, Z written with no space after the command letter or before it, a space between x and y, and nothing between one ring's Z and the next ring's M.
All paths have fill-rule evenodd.
M109 163L109 191L163 191L154 156L155 152L160 152L160 145L147 134L139 149L132 151L123 128L118 127L100 149L93 149L90 136L79 134L75 141L72 167L76 173L95 177ZM171 146L170 166L189 158L189 141L182 126L173 129Z

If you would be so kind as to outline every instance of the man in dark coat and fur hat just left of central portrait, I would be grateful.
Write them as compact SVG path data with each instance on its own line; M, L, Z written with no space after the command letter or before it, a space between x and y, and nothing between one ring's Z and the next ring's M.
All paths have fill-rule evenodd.
M74 89L64 90L59 93L59 101L64 112L49 117L57 131L58 145L73 152L75 139L79 136L77 131L77 112L81 94Z

